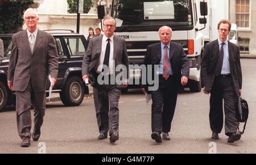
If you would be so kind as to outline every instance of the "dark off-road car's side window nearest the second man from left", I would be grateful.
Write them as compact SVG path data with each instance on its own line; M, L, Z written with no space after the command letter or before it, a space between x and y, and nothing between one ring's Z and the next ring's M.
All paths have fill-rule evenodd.
M64 38L67 44L70 56L79 56L85 54L85 47L82 44L82 39L80 37L76 38Z

